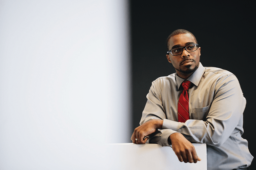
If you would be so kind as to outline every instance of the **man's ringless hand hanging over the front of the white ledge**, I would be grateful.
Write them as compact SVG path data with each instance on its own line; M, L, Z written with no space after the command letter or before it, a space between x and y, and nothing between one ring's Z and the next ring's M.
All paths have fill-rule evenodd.
M201 160L201 158L197 156L195 147L182 134L171 134L169 139L171 141L172 150L177 155L179 161L184 161L185 163L197 163L197 161Z

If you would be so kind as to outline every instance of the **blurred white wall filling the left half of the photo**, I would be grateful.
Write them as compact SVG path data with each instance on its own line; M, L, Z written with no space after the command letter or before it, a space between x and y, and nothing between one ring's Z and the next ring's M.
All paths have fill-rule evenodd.
M1 170L106 169L104 143L129 142L128 19L120 0L0 1Z

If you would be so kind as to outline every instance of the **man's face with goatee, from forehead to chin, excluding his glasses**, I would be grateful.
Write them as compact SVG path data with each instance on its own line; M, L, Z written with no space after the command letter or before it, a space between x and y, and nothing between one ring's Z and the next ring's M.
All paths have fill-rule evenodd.
M188 44L196 43L196 39L191 34L179 34L169 39L169 50L177 47L185 47ZM178 76L187 79L198 67L201 55L201 47L194 52L183 52L178 56L169 53L166 55L168 61L172 63Z

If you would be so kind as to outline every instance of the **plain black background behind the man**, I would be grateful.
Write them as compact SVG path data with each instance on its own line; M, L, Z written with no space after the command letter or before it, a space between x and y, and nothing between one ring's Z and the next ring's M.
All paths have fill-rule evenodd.
M132 47L132 131L139 126L151 82L175 72L166 59L165 40L176 29L192 32L201 46L201 63L234 73L247 100L243 138L255 157L256 58L255 1L130 0ZM235 149L235 148L234 148ZM253 160L250 168L255 169Z

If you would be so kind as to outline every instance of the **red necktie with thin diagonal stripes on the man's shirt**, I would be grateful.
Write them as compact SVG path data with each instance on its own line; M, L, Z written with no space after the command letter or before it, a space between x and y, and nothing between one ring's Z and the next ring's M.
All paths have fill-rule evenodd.
M189 108L188 108L188 89L192 85L192 83L188 80L182 82L183 92L180 95L178 102L178 121L186 122L189 119Z

